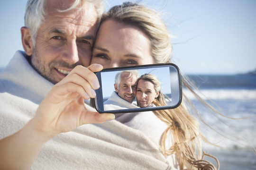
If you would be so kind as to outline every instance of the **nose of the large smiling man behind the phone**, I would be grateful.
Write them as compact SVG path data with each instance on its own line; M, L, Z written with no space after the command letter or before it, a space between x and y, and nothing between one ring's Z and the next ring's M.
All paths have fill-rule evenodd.
M77 44L75 41L67 43L64 53L64 61L66 61L70 65L75 64L79 61Z

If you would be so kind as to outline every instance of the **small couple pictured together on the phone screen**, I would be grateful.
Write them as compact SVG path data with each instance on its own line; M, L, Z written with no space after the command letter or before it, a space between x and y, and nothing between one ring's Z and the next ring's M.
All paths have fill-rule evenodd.
M159 102L159 98L163 96L158 79L147 73L138 77L137 70L118 72L115 76L114 87L115 91L103 103L104 110L153 107L154 102ZM138 107L133 103L135 97Z

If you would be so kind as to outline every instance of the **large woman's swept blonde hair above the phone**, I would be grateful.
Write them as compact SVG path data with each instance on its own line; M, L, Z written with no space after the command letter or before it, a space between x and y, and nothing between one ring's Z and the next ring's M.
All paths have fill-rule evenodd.
M170 63L172 43L164 21L157 12L136 3L125 2L112 7L102 16L102 22L112 19L119 23L136 26L151 42L151 55L155 63Z

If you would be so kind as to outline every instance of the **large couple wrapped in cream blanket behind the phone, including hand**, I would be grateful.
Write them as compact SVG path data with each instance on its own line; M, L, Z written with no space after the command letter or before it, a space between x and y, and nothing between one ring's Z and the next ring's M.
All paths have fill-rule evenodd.
M0 169L200 169L198 122L184 103L120 119L84 103L103 67L171 62L157 12L103 11L103 0L28 0L24 51L0 73Z

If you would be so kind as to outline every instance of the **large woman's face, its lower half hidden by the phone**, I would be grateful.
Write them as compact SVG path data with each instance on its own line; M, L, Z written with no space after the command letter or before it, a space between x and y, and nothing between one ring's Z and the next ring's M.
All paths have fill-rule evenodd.
M154 64L150 40L135 26L104 21L97 34L91 64L103 68Z

